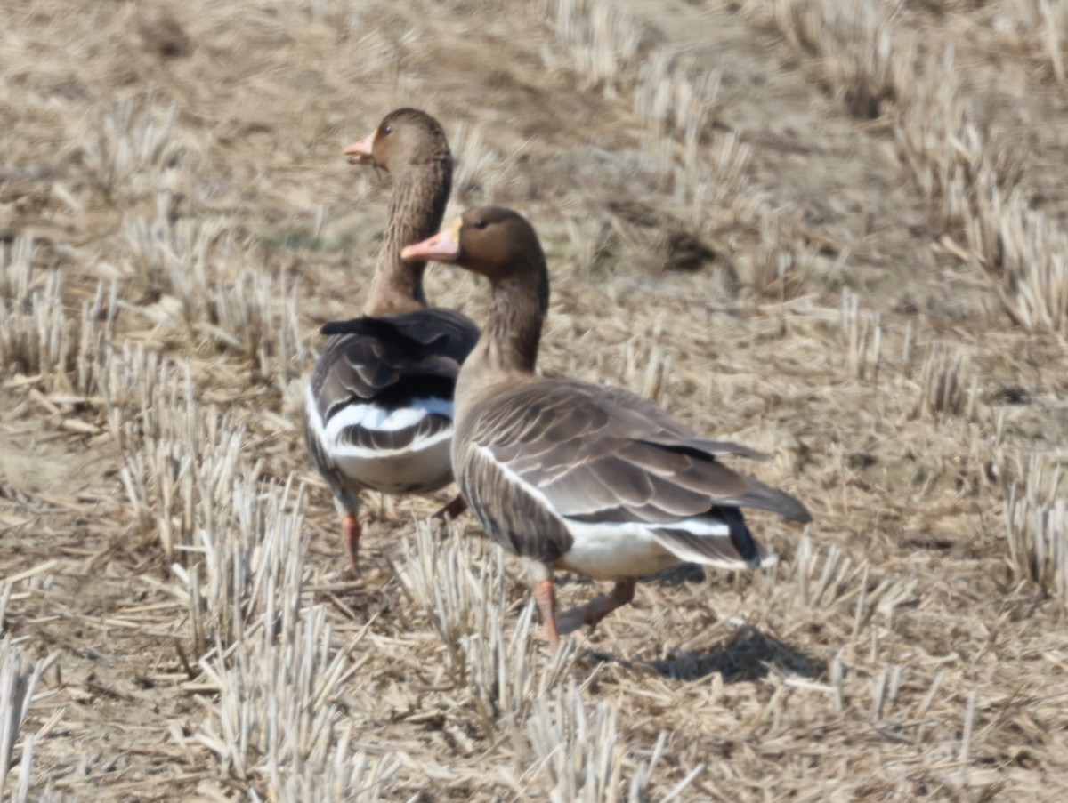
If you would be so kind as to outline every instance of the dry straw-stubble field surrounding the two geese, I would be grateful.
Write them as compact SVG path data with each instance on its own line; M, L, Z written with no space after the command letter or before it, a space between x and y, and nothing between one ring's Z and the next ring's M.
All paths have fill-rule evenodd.
M1066 41L1063 0L6 0L0 799L1068 799ZM450 215L537 227L544 371L773 455L779 565L555 662L446 491L368 494L350 580L301 377L398 106Z

